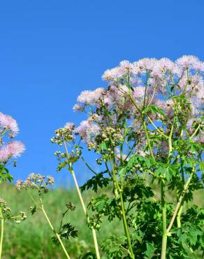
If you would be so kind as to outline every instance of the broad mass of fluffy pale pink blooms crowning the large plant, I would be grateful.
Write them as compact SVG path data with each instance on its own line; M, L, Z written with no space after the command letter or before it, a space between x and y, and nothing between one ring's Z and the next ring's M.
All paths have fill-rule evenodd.
M92 142L96 135L101 134L101 127L117 123L118 114L128 114L126 118L130 119L129 123L139 129L140 111L150 105L165 112L168 127L175 110L173 94L187 99L189 108L186 111L189 109L189 113L186 118L184 116L184 123L189 127L192 118L201 118L204 105L203 71L204 63L191 55L180 57L175 62L166 57L143 58L133 63L124 60L119 66L103 73L102 78L108 81L108 88L99 87L81 92L78 104L73 109L88 111L89 118L97 113L100 121L88 118L80 123L75 133L80 134L85 142ZM184 108L180 104L177 106L182 116ZM109 114L110 118L104 120L104 113ZM152 120L160 118L159 113L150 114Z

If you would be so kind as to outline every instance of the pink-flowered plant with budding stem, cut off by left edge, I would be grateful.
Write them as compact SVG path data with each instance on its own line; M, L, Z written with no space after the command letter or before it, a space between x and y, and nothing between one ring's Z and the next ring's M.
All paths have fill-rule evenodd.
M7 167L11 162L16 166L15 158L19 157L25 150L21 141L13 140L18 132L16 120L0 112L0 183L2 181L12 181L13 176L10 175ZM3 249L4 222L14 220L16 223L20 223L21 220L24 221L26 218L27 216L23 211L20 211L17 216L11 214L7 202L0 197L0 258Z

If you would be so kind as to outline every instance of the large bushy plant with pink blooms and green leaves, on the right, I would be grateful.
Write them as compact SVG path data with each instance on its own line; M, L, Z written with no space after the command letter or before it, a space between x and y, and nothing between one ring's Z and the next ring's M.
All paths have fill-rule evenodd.
M65 148L55 153L59 171L66 167L76 181L73 165L81 159L94 174L82 191L112 186L112 195L104 190L89 202L94 216L85 209L94 232L104 217L122 221L124 236L101 245L108 258L196 258L204 251L204 210L190 203L204 179L203 71L194 56L122 61L103 73L108 87L78 97L74 110L87 120L67 123L52 138ZM98 156L97 172L85 147ZM99 258L96 235L94 244Z

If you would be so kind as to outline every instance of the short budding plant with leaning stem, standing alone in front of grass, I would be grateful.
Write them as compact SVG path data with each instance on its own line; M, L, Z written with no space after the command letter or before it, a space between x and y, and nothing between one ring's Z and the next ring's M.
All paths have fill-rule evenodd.
M34 202L34 207L31 207L31 215L36 213L36 211L43 212L43 215L46 218L46 221L48 222L48 225L50 226L52 232L54 232L54 237L52 237L52 241L54 244L60 245L61 248L64 251L64 254L66 255L66 258L70 259L70 256L68 255L68 252L66 251L66 248L62 242L62 239L69 239L70 237L77 237L78 231L75 230L73 225L71 223L63 223L64 216L68 211L73 211L75 207L73 204L66 204L66 211L62 214L61 223L59 226L59 231L55 230L53 224L50 221L50 218L48 217L47 212L45 211L45 207L43 204L43 194L48 193L49 187L54 185L54 178L52 176L42 176L41 174L30 174L28 178L25 181L18 180L16 183L17 190L26 190L29 197L31 198L32 202ZM38 201L34 198L31 190L36 190L38 193Z

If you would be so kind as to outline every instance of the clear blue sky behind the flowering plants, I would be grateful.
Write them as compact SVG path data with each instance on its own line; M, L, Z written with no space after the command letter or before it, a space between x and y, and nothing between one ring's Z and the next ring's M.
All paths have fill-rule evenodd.
M0 3L0 111L20 126L26 153L10 168L56 173L50 143L56 128L82 116L72 107L82 90L104 86L101 74L122 59L196 55L203 60L203 0L7 0ZM87 169L77 167L80 183Z

